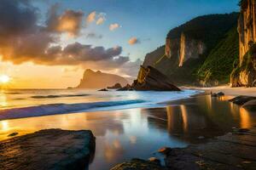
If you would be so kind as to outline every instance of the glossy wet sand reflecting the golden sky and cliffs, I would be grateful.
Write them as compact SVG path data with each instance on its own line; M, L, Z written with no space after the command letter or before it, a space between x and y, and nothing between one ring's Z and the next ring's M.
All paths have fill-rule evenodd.
M198 96L153 109L98 111L0 121L0 139L9 133L32 133L45 128L90 129L96 136L96 154L90 169L109 169L133 157L163 157L162 146L186 147L231 132L232 127L256 125L256 113L228 102L230 97ZM203 138L201 138L203 137Z

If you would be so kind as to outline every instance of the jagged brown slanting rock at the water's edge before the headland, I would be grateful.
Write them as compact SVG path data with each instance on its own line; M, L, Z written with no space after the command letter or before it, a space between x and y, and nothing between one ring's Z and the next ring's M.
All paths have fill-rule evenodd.
M152 66L147 68L141 66L137 80L133 82L131 88L142 91L180 91L179 88L172 84L168 77Z

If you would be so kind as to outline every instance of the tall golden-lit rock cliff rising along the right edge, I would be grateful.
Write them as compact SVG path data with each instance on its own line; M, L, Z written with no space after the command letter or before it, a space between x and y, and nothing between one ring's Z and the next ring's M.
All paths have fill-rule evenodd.
M239 62L230 76L232 87L256 86L256 1L242 0L238 20Z

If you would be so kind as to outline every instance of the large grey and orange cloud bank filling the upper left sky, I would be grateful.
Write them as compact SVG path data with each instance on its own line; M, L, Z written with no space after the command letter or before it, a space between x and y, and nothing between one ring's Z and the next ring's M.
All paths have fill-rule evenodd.
M30 1L1 0L0 3L0 56L2 61L15 65L33 62L38 65L73 65L91 69L131 71L137 63L122 56L122 48L104 48L91 44L73 42L60 46L62 32L79 36L83 13L65 10L57 13L58 7L50 8L42 24L38 8ZM65 26L65 23L71 23ZM63 26L64 25L64 26ZM96 34L88 34L96 37Z

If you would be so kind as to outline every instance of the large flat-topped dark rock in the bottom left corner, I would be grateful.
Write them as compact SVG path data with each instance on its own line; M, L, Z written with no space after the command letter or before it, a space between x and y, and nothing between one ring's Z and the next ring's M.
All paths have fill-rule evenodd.
M0 142L0 169L84 169L95 150L89 130L40 130Z

